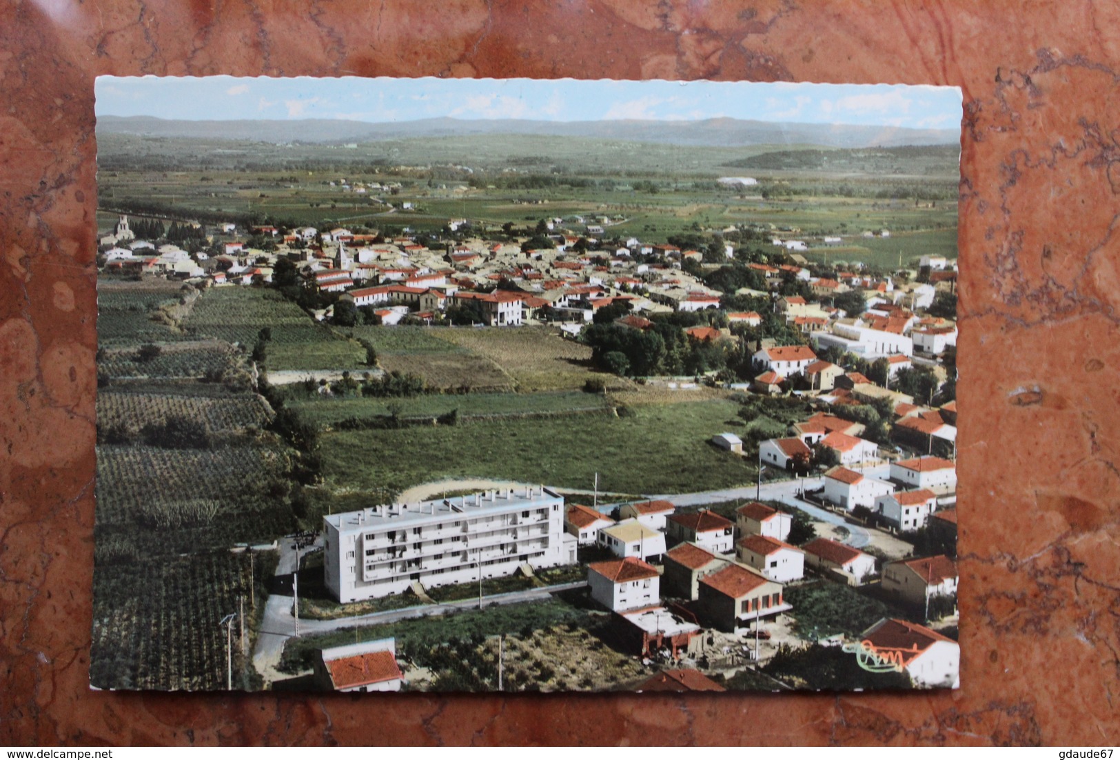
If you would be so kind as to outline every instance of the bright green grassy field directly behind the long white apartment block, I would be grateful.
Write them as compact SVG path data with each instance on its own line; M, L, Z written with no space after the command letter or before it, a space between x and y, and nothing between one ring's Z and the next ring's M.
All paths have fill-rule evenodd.
M321 436L327 485L403 490L451 478L494 478L625 493L706 491L750 483L750 462L708 441L738 405L644 406L619 417L472 421L420 430L347 430Z

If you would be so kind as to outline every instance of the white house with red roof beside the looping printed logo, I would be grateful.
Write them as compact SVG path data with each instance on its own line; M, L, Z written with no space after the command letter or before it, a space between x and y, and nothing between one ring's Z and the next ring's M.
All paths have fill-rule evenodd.
M883 619L864 631L861 647L896 662L920 688L960 688L961 647L925 625Z

